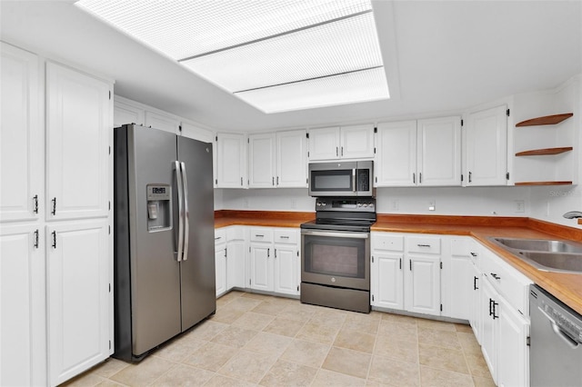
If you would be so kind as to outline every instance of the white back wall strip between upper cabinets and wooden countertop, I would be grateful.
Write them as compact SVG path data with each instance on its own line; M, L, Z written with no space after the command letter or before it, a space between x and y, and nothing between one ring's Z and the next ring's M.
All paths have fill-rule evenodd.
M315 211L306 189L215 190L220 210ZM378 188L378 213L529 216L528 187ZM517 210L522 201L523 212ZM429 202L436 210L429 211Z

